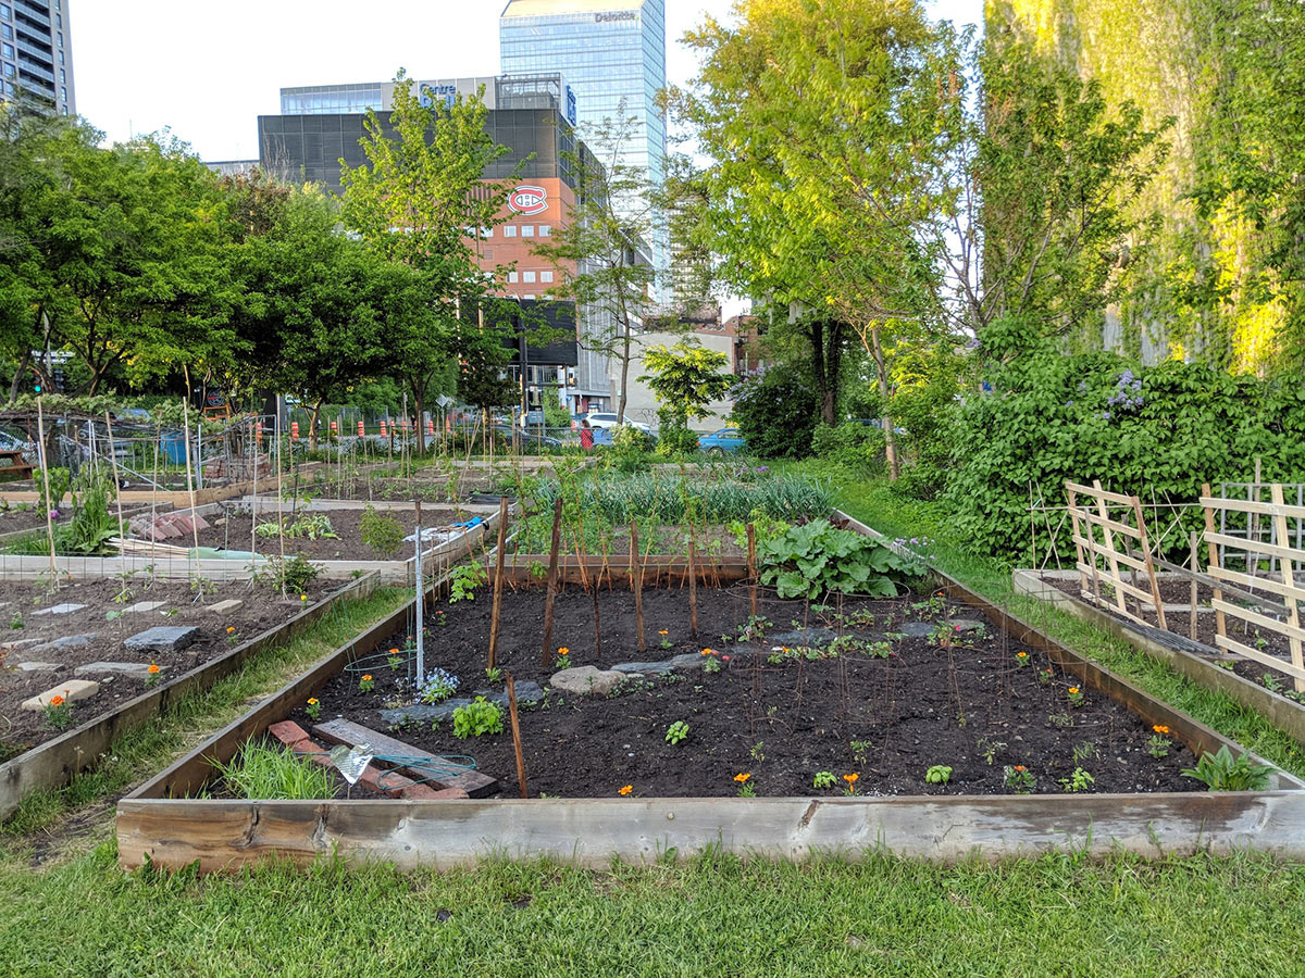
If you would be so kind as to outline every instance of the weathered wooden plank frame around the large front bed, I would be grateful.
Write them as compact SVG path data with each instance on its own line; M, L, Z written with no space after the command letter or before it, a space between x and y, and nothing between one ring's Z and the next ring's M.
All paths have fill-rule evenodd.
M861 532L864 524L851 520ZM873 531L869 531L873 533ZM876 533L876 536L878 536ZM688 567L668 562L672 572ZM699 574L703 569L699 569ZM585 571L586 575L589 571ZM745 571L744 571L745 572ZM517 583L534 578L509 571ZM579 567L562 572L579 578ZM1228 746L1218 732L1160 703L1084 660L1032 626L936 572L937 584L1017 640L1044 649L1065 670L1171 735L1195 754ZM444 588L446 575L437 587ZM803 858L868 850L957 861L1030 855L1069 848L1092 854L1120 849L1142 855L1259 849L1305 855L1305 785L1285 772L1274 790L1137 795L1002 795L895 798L592 798L501 801L202 801L185 795L214 776L251 737L283 720L348 661L371 653L408 619L397 612L326 656L278 694L211 737L117 806L117 852L124 868L231 871L266 858L308 863L338 854L401 867L440 868L487 857L540 855L606 867L613 857L689 858L723 849L762 858Z

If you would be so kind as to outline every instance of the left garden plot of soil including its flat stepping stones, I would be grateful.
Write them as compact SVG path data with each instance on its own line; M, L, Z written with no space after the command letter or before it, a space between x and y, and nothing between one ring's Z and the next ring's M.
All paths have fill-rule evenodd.
M226 655L325 592L320 583L288 597L248 583L206 583L201 593L144 576L125 589L114 580L77 582L55 593L38 584L5 584L0 763ZM38 708L23 705L42 695ZM67 702L44 709L52 696Z

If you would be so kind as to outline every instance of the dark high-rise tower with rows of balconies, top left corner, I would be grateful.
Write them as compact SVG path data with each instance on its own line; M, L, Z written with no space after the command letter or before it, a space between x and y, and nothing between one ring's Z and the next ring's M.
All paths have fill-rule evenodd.
M76 115L68 0L0 0L0 100Z

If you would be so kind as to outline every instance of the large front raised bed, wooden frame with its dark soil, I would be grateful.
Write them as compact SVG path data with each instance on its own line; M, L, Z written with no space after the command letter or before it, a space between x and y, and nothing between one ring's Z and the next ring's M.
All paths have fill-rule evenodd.
M683 576L683 565L679 572ZM552 672L539 661L543 596L526 588L529 575L514 576L522 589L505 596L513 613L502 618L500 656L515 673L521 694L531 675L543 685ZM564 578L569 587L559 599L555 644L570 649L573 664L589 665L596 659L592 599L574 587L578 574ZM119 805L120 861L133 867L146 857L158 866L198 859L201 870L215 870L273 853L307 861L325 852L403 866L450 866L495 853L522 858L549 854L606 865L613 855L639 861L673 849L686 857L709 846L770 857L831 849L855 855L886 846L936 858L960 858L980 846L989 857L1057 845L1150 854L1245 845L1279 853L1305 850L1305 793L1297 790L1301 785L1296 778L1274 772L1270 786L1282 790L1270 792L1206 794L1188 784L1181 785L1186 790L1163 790L1178 788L1171 763L1190 763L1193 756L1221 746L1233 754L1242 750L959 585L945 582L945 588L953 602L932 599L929 592L889 602L846 600L842 614L863 612L861 625L850 627L846 618L833 622L835 639L840 629L844 634L861 629L882 638L861 636L860 649L844 642L838 657L827 651L822 657L814 642L809 645L816 649L812 657L805 651L771 652L771 645L788 642L779 638L783 631L820 625L804 618L805 609L792 613L791 605L783 610L774 606L776 615L788 612L788 617L769 629L766 638L745 635L744 642L723 642L722 634L737 638L737 626L749 619L749 588L714 591L706 580L698 588L697 639L688 634L684 591L645 592L650 642L639 656L625 614L628 596L619 587L604 591L600 613L604 608L609 613L603 617L602 664L668 660L681 653L696 656L698 664L719 661L722 669L707 672L681 660L683 672L672 675L685 678L668 681L659 677L660 668L641 666L643 678L626 679L611 699L562 692L561 703L549 696L545 709L540 698L521 715L527 780L535 795L527 801L183 797L213 782L214 760L228 760L251 737L287 717L305 729L341 712L352 712L359 721L385 722L380 711L386 707L375 696L386 695L381 685L388 681L389 648L406 639L408 618L397 614L124 798ZM762 608L771 608L771 601L760 600ZM471 605L436 606L432 617L450 623L428 631L427 647L438 656L432 664L465 669L462 689L472 695L482 687L496 689L484 675L489 604L484 589ZM921 608L912 608L916 604ZM876 623L864 617L870 614L878 615ZM984 618L983 634L962 623L984 623ZM925 634L890 638L908 623L920 625L912 630ZM957 623L962 623L960 632ZM659 634L663 630L666 636ZM929 644L930 635L936 643L945 640ZM660 647L663 638L669 648ZM886 659L869 648L878 642L889 643ZM787 647L803 648L799 642ZM702 648L720 655L702 656ZM1034 664L1018 665L1021 651L1034 657ZM773 655L778 661L771 661ZM346 670L351 664L356 666ZM1037 678L1044 668L1052 670L1047 683ZM356 689L363 669L378 679L372 699ZM1081 708L1067 704L1071 685L1086 696ZM321 724L301 712L309 696L322 705ZM1067 713L1074 725L1051 721L1053 711ZM668 745L667 728L677 720L689 725L689 735ZM416 750L425 743L431 752L471 754L482 771L513 793L515 768L506 733L455 741L455 750L450 750L448 730L432 730L429 720L407 726L401 717L394 721L398 729L390 735ZM445 720L442 726L448 725ZM1168 728L1168 758L1152 758L1144 746L1158 725ZM1129 794L1067 793L1057 784L1061 769L1073 772L1073 750L1088 735L1095 738L1099 756L1082 755L1086 760L1078 765L1103 778L1092 788L1126 789ZM861 751L864 760L852 747L852 741L863 737L870 742ZM988 738L987 746L994 739L1005 743L990 769L980 737ZM947 784L925 781L933 764L953 767ZM1002 794L1015 790L1006 784L1005 768L1019 764L1032 772L1034 788L1047 794ZM821 769L830 771L837 784L855 785L857 797L839 795L837 788L816 789L812 778ZM752 777L737 781L741 773ZM855 781L842 777L851 773L857 775ZM740 784L754 785L760 795L783 797L733 797ZM625 785L632 786L629 797L620 797ZM542 799L540 792L568 797Z

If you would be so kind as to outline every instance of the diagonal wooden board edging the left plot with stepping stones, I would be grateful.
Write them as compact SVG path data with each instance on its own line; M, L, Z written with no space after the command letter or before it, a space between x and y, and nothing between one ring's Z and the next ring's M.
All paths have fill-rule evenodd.
M367 597L376 589L377 583L376 574L364 575L230 652L153 690L146 690L91 722L68 730L0 764L0 822L17 811L29 792L38 788L63 788L74 775L97 767L119 734L159 716L183 696L207 690L236 672L248 659L290 642L342 601Z

